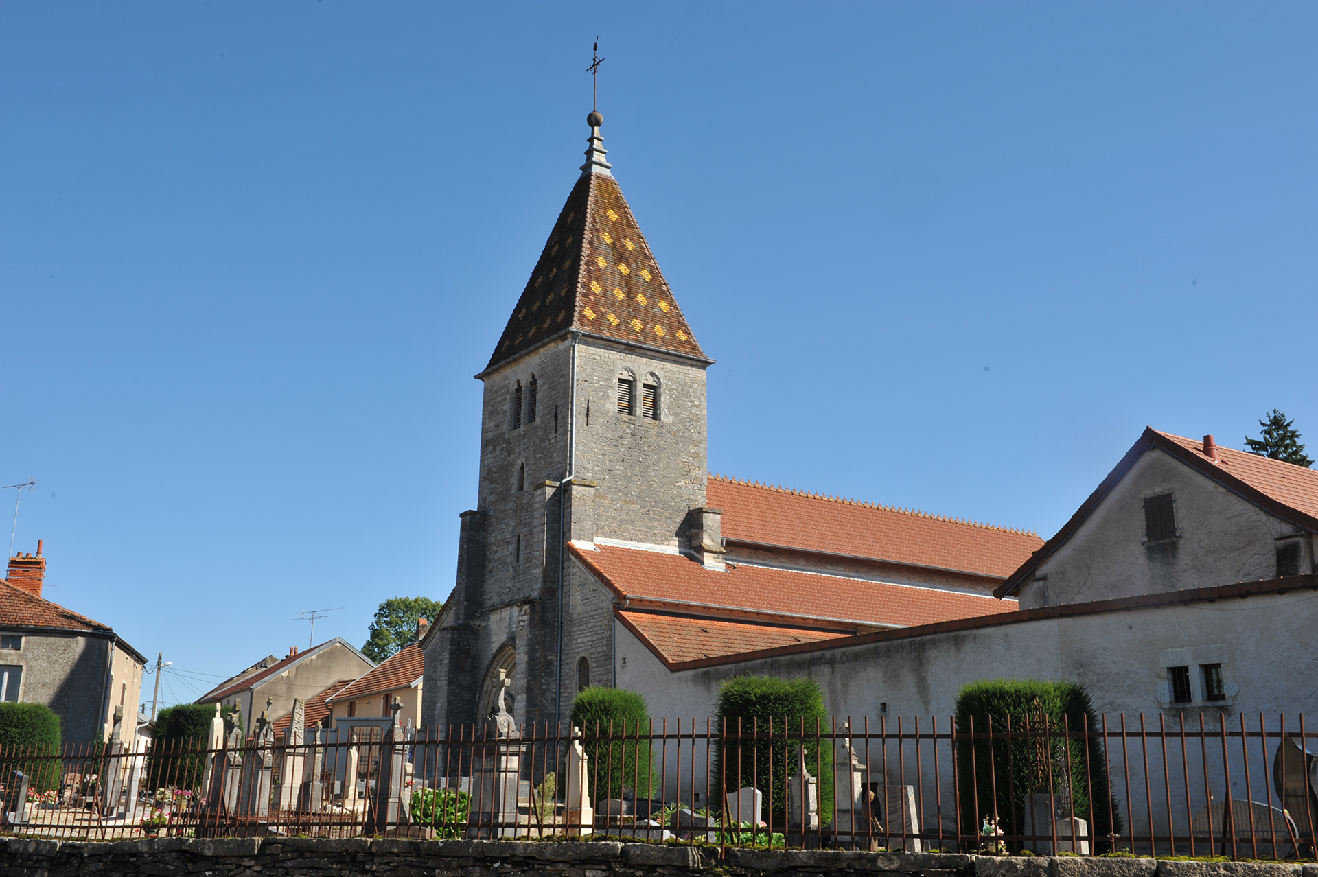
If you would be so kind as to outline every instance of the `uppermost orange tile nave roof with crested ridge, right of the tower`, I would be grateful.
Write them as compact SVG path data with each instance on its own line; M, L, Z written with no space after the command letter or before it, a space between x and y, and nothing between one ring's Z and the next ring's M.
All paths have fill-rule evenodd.
M706 504L728 540L1006 578L1037 533L710 475Z

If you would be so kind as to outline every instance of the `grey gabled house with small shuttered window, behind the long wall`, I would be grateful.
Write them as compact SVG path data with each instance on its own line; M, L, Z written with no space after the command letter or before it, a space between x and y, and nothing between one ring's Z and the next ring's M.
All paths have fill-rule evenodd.
M1315 570L1318 471L1147 428L995 591L1021 607Z

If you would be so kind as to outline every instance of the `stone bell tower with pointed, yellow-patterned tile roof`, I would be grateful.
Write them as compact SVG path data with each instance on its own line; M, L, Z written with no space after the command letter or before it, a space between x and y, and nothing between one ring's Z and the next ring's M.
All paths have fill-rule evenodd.
M610 685L612 603L573 593L564 545L676 550L705 503L712 359L612 174L602 116L587 122L581 175L476 375L480 496L461 515L453 595L424 640L427 724L497 711L500 670L518 723L565 720L583 660Z

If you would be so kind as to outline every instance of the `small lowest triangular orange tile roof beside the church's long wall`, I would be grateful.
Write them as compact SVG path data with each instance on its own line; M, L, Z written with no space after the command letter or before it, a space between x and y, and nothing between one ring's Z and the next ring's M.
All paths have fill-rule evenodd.
M849 636L845 631L691 618L668 612L617 610L616 615L641 641L651 651L663 654L670 662L700 661L724 654Z

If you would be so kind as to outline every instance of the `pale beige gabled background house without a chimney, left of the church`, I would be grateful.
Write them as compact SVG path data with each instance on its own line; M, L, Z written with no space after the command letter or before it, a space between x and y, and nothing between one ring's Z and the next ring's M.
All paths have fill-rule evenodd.
M239 707L244 731L250 732L256 716L266 711L266 701L273 702L272 716L283 716L293 711L294 698L311 698L336 681L358 678L374 666L374 661L336 636L304 652L291 647L283 658L272 654L257 661L196 702Z

